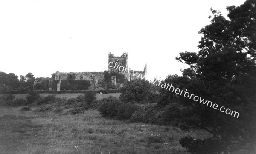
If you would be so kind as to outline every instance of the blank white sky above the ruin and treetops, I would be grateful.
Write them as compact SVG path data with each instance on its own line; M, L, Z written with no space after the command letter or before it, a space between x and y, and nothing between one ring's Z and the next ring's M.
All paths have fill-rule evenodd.
M108 53L148 78L181 75L175 60L198 51L210 8L245 0L1 0L0 71L50 77L55 71L108 70Z

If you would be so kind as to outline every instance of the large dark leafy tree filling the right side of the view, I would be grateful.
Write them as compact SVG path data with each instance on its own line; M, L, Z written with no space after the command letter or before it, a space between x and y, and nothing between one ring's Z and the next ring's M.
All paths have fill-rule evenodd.
M169 77L166 81L180 81L177 86L191 94L239 112L239 118L235 118L185 97L175 98L189 108L188 117L183 118L189 128L206 129L226 148L253 149L256 146L256 0L227 7L229 19L219 11L211 11L211 24L199 31L200 51L185 51L176 57L190 68L183 70L183 77ZM161 95L166 96L164 93Z

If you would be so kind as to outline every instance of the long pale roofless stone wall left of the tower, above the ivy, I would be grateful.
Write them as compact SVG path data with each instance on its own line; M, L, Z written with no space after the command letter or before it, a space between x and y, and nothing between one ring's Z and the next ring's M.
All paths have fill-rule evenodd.
M104 79L104 72L56 72L55 80L91 80L101 83Z

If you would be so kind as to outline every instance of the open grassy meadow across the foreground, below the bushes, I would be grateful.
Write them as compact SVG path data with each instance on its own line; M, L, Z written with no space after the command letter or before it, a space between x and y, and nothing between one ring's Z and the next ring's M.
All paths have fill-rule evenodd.
M211 136L205 131L105 119L96 110L70 115L20 108L0 107L1 154L189 154L180 138Z

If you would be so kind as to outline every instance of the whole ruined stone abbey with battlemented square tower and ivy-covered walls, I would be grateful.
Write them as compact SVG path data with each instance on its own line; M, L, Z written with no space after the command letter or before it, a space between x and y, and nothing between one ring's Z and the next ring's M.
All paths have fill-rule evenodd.
M114 67L122 67L126 71ZM137 76L134 74L141 74ZM59 72L55 73L55 80L35 81L35 90L99 90L120 88L125 81L134 80L144 77L147 79L147 66L143 71L134 71L128 68L128 53L121 56L114 56L113 53L108 54L108 70L101 72Z

